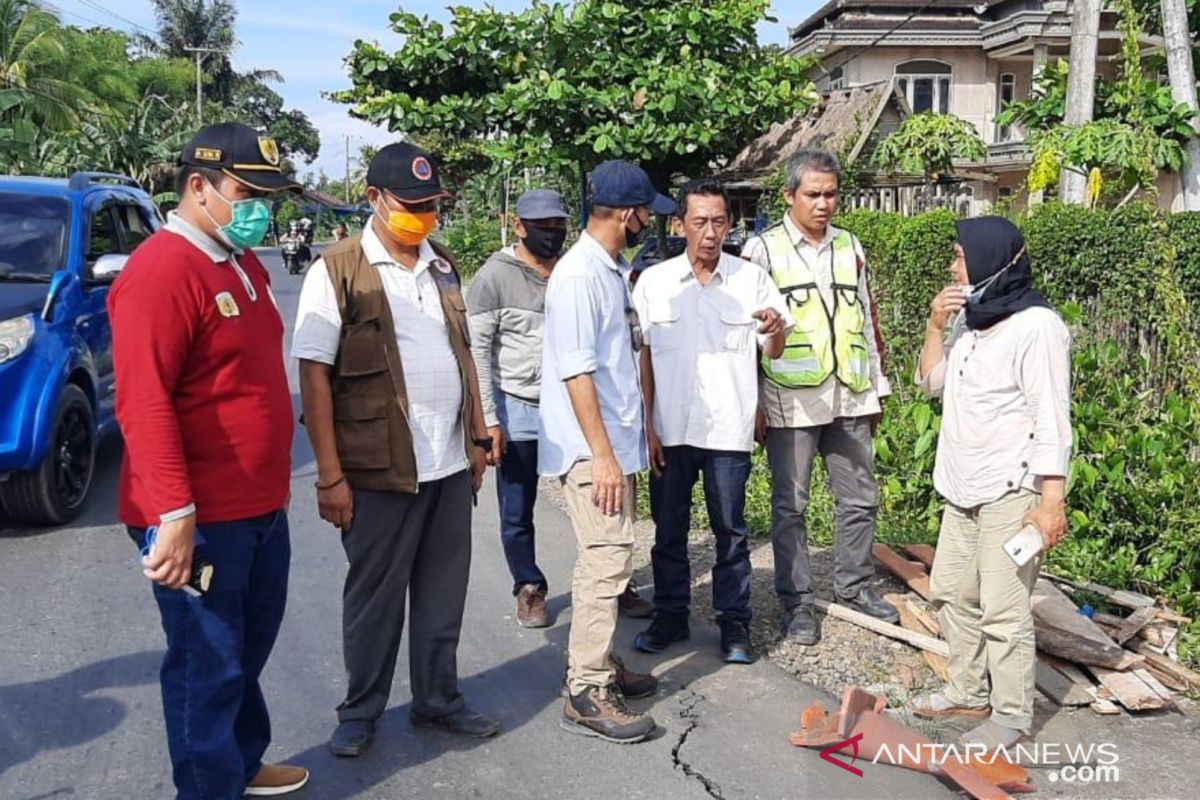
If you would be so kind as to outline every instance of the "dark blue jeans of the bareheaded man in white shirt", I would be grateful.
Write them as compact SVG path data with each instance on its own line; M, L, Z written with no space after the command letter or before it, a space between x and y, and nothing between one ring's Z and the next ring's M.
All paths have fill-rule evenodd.
M691 528L691 491L704 479L704 504L716 536L713 566L713 608L719 622L750 621L750 545L745 522L750 453L664 447L666 467L650 477L654 517L654 608L660 614L686 616L691 604L691 566L688 531Z

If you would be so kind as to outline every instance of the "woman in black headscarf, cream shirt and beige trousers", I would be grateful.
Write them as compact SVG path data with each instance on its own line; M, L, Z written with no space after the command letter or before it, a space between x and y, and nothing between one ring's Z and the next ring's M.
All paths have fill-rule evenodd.
M917 367L918 385L943 398L934 486L947 505L930 588L950 680L910 709L989 717L962 740L992 748L1033 723L1030 597L1067 529L1070 333L1033 288L1016 225L980 217L958 234L954 284L931 303ZM1033 545L1016 553L1022 533Z

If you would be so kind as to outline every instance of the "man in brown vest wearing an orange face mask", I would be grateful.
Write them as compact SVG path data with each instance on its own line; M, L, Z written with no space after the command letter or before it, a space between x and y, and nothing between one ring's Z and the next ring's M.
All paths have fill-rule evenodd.
M374 215L305 278L292 355L317 459L317 504L349 560L348 687L330 739L360 754L388 705L406 599L413 723L469 736L499 726L458 692L470 513L491 450L452 257L428 239L445 192L408 144L367 169Z

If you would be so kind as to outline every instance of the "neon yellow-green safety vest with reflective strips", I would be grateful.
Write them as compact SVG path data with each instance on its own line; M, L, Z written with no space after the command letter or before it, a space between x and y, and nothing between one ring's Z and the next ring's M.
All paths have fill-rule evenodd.
M796 327L787 337L779 359L763 355L767 378L786 389L820 386L836 377L852 392L871 387L871 357L868 349L866 314L858 295L858 254L853 236L842 230L829 248L833 270L833 311L826 306L817 288L812 266L797 252L782 225L762 234L767 246L770 273Z

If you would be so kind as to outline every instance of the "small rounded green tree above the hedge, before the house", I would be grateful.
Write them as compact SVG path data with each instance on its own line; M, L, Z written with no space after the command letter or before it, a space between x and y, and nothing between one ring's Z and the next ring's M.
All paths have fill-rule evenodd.
M913 114L887 136L875 151L882 169L920 173L926 184L954 170L955 160L983 161L988 148L974 126L953 114Z

